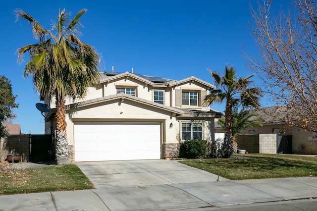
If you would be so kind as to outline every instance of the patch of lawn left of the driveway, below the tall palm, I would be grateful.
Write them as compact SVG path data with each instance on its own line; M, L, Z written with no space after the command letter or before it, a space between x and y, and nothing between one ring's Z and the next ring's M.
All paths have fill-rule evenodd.
M75 164L0 171L0 195L94 188Z

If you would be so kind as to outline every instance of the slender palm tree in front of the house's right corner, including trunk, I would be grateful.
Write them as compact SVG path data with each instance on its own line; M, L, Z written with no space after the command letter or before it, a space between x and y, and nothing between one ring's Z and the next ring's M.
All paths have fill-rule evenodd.
M219 89L211 90L210 95L205 98L205 103L211 105L213 103L221 104L225 101L222 157L230 158L234 152L232 146L232 108L260 107L261 90L259 88L249 88L252 83L249 79L254 75L237 79L232 66L225 66L225 74L221 77L215 71L211 72L211 76Z

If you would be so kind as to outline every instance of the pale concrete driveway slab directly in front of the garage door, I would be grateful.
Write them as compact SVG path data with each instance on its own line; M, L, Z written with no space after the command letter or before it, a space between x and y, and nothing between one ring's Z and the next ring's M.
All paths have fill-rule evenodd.
M176 160L76 162L97 189L226 181Z

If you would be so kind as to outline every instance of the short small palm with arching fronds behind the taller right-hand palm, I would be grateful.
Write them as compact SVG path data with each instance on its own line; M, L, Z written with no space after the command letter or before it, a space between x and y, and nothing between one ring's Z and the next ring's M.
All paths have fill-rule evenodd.
M240 110L238 107L233 108L232 112L232 145L234 153L237 152L237 143L235 142L237 135L248 127L262 127L263 119L257 113L249 110ZM225 129L225 118L221 117L218 124Z

